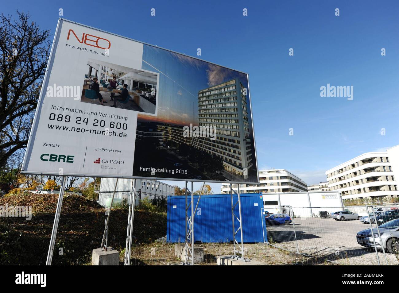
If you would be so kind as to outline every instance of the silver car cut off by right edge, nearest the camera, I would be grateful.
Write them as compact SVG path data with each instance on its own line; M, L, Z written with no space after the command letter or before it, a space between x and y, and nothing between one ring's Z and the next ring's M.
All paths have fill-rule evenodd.
M375 246L378 250L384 248L387 252L391 254L399 254L399 219L391 220L385 222L384 224L378 226L379 234L377 228L371 228L362 230L356 235L356 240L358 244L368 248L374 248ZM374 239L373 239L373 233Z

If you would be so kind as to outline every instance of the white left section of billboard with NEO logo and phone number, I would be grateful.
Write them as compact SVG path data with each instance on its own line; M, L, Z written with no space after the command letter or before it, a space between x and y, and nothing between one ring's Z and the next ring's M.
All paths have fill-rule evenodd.
M117 99L121 80L132 99L130 77L144 73L156 83L157 74L140 70L142 51L142 43L59 21L23 173L132 177L137 112L104 101L111 93ZM118 85L109 88L114 76Z

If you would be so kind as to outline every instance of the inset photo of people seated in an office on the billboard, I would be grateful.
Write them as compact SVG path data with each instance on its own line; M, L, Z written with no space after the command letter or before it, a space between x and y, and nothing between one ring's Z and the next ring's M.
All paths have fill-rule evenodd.
M89 59L81 102L156 114L157 83L157 73Z

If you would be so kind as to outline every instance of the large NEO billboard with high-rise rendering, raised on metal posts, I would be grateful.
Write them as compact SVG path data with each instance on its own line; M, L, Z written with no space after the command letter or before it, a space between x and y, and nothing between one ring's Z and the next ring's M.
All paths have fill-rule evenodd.
M259 182L248 75L60 19L22 172Z

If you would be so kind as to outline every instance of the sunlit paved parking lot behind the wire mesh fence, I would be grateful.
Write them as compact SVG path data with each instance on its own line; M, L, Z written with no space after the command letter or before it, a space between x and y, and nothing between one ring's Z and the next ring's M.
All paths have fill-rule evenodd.
M298 247L301 253L340 264L377 265L375 250L365 248L356 241L357 232L370 228L358 220L336 221L332 218L294 218ZM375 225L373 225L375 226ZM269 242L293 251L296 250L294 225L267 226ZM385 258L379 253L381 264ZM399 264L397 256L387 253L389 264Z

